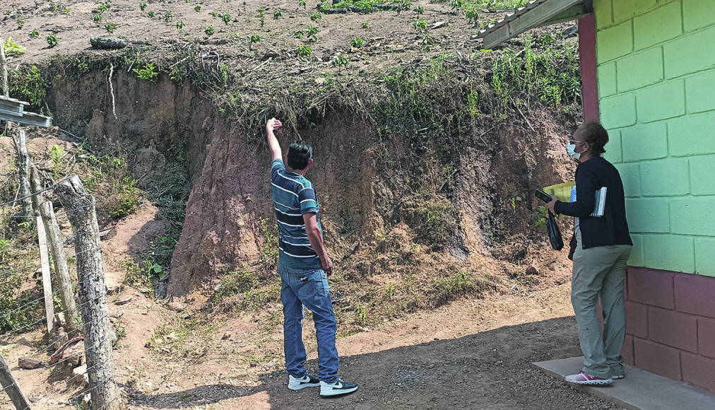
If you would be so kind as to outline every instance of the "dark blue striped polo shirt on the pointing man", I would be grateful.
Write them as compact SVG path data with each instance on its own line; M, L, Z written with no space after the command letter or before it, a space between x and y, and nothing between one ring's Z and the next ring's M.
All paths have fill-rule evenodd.
M314 212L320 228L320 205L315 189L300 174L285 169L281 160L271 164L271 194L278 222L278 253L287 268L320 269L320 258L310 246L303 214Z

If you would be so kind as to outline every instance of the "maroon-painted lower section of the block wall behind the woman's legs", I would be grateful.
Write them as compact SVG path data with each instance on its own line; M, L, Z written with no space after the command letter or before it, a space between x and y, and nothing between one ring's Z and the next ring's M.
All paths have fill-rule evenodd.
M626 364L715 393L715 280L649 268L626 274Z

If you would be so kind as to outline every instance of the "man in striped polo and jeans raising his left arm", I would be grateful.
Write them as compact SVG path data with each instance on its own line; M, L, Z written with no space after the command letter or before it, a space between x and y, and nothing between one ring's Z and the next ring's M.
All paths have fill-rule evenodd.
M275 118L266 124L270 149L271 192L278 222L278 273L282 280L283 342L288 389L320 386L320 396L352 393L358 384L337 377L335 314L332 312L327 276L332 275L332 261L322 243L320 205L315 189L305 173L312 167L312 146L295 141L281 160L278 140L273 134L281 127ZM303 306L312 311L317 338L318 377L305 370L305 346L302 341Z

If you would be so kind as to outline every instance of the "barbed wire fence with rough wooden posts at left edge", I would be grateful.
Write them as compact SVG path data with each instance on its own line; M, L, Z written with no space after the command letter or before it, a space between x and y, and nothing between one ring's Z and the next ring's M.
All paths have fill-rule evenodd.
M84 373L87 376L87 386L82 391L81 397L89 394L92 410L119 409L121 396L112 373L112 344L115 335L107 309L107 288L104 283L102 245L99 242L94 197L87 193L77 175L41 190L37 186L33 188L36 191L33 194L1 203L0 218L16 222L19 220L21 222L18 225L28 222L24 225L25 228L35 226L39 235L46 236L44 238L40 236L38 243L31 245L26 243L14 245L13 240L0 241L0 286L22 285L29 280L31 273L36 273L40 268L43 273L44 293L39 296L31 293L32 290L25 290L17 300L11 298L9 304L0 301L0 308L3 308L0 310L0 340L7 341L11 337L16 338L18 334L35 331L41 323L46 324L48 337L33 346L33 351L19 358L25 363L29 361L35 368L17 370L12 374L8 363L0 356L2 386L0 394L7 394L16 410L29 410L32 405L20 389L20 386L24 385L23 381L31 383L39 373L48 369L53 372L58 366L65 366L67 363L79 364L84 356L84 366L87 366ZM64 208L64 211L58 215L54 215L51 202L39 200L39 195L49 190L54 191ZM9 215L22 201L26 203L28 196L33 200L34 208L40 208L35 209L36 215L24 215L24 212L19 215ZM73 230L72 235L64 235L59 230L56 221L56 216L59 215L64 215L69 220ZM57 225L54 234L51 228L48 228L53 223ZM49 232L45 233L45 230ZM74 244L74 253L65 255L64 248L69 242ZM48 250L51 250L54 262L56 283L54 289L49 285L51 283L49 260L39 258L41 253L47 254ZM14 258L9 258L9 255L14 255ZM36 261L38 259L40 262ZM76 278L70 277L66 262L64 263L66 278L59 278L62 270L59 261L67 259L74 260L76 264ZM75 289L79 296L79 303L75 301ZM6 291L11 291L11 294L18 293L15 288ZM22 294L26 297L21 297ZM58 303L61 306L58 312L54 312L54 299L61 300L61 303ZM5 306L2 306L1 303L4 302ZM45 309L42 309L43 306ZM80 342L84 343L84 350L82 348L71 350L73 343ZM63 354L65 348L67 350ZM50 353L55 354L49 358ZM72 374L71 381L74 382L74 378L82 381L84 375ZM4 401L4 399L0 400Z

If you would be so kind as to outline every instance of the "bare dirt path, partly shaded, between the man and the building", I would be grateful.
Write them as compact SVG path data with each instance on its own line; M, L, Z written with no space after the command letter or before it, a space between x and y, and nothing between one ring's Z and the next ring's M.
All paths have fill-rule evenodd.
M566 283L528 297L459 301L342 338L340 374L360 384L342 398L320 399L317 389L289 391L285 371L258 374L256 386L232 383L240 358L225 356L210 363L218 377L184 374L130 408L619 409L531 366L580 353L568 297ZM307 367L317 370L315 353Z

